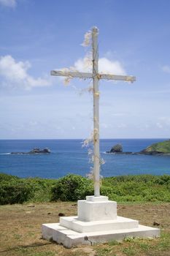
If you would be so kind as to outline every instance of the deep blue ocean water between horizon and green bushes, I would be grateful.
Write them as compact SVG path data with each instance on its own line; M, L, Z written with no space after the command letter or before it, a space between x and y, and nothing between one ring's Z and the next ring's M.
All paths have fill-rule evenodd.
M137 152L166 139L101 139L100 151L105 164L101 176L128 174L170 174L169 156L106 154L121 143L123 151ZM28 152L32 148L50 148L51 154L9 154ZM59 178L68 173L86 176L90 171L88 149L82 140L0 140L0 172L11 175Z

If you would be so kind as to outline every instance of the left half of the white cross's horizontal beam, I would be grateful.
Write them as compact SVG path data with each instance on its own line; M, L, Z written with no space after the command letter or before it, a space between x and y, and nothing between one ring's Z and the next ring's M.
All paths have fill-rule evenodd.
M72 77L72 78L93 78L93 74L85 73L85 72L72 72L72 71L57 71L52 70L51 75L58 75L64 77Z

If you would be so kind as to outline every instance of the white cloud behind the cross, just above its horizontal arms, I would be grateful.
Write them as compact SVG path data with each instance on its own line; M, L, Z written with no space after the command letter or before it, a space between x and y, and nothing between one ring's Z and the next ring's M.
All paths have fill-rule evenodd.
M80 72L92 72L92 61L90 56L84 59L78 59L74 63L74 69ZM125 75L125 69L120 61L110 61L107 58L98 59L98 72L115 75Z

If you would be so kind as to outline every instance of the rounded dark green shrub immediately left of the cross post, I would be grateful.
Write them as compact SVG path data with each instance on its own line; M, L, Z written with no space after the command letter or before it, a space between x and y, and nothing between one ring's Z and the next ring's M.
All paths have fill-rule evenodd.
M59 178L52 188L52 200L75 201L93 195L93 182L82 176L69 174Z

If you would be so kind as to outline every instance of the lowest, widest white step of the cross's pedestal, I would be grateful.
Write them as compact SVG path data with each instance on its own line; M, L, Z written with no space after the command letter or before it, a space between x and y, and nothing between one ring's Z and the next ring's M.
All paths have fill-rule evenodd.
M139 225L139 227L121 230L107 230L88 233L79 233L61 226L59 223L42 225L42 237L47 240L56 241L67 248L78 244L96 244L107 241L121 241L125 237L155 238L160 235L160 230L154 227Z

